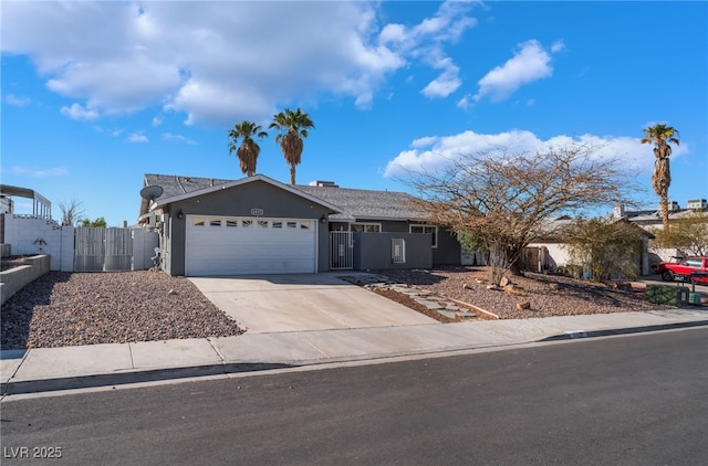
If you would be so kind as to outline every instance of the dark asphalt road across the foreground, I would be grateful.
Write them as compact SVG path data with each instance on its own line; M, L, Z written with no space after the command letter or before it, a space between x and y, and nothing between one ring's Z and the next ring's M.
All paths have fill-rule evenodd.
M706 465L708 329L0 407L3 465Z

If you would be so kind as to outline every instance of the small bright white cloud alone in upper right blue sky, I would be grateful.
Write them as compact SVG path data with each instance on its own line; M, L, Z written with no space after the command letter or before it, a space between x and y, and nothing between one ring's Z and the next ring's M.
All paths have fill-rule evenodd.
M552 46L554 51L561 49L560 42ZM475 100L489 97L491 102L501 102L522 85L543 80L552 74L551 55L539 41L527 41L519 44L519 51L507 63L494 67L479 80L479 91L475 95Z

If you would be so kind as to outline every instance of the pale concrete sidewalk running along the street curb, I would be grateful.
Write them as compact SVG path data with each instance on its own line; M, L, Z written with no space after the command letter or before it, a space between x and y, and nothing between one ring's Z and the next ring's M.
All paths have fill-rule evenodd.
M697 309L6 350L0 377L3 395L105 386L708 326Z

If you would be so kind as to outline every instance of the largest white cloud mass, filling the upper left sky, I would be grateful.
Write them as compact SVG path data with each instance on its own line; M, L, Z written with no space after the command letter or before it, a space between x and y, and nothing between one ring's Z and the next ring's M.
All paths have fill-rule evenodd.
M419 24L382 24L376 2L9 2L2 52L32 57L67 115L153 105L186 121L269 119L322 94L373 105L410 61L441 70L425 94L459 86L444 45L475 24L470 3L441 3ZM436 63L428 63L435 51ZM439 66L445 63L445 66ZM83 112L81 112L83 109ZM155 124L157 120L155 121Z

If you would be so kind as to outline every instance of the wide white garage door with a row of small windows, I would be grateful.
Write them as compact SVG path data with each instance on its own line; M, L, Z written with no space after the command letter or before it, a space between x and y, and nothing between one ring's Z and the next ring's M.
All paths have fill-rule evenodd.
M316 229L308 219L187 215L185 274L314 273Z

